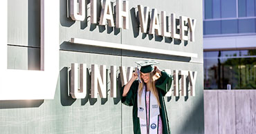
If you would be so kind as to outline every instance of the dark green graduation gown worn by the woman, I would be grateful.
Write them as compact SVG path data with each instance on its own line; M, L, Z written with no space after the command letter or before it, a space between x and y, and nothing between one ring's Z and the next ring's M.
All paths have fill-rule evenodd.
M171 85L172 85L172 77L167 73L165 73L164 71L161 71L161 77L156 80L156 88L158 90L158 97L161 105L160 116L163 124L163 134L171 133L169 120L167 117L167 111L165 108L165 99L164 99L164 96L168 92L168 90L170 90ZM134 134L140 134L140 119L138 118L138 104L137 104L138 80L134 81L134 83L131 84L131 87L126 97L122 97L124 88L125 86L122 86L121 101L123 104L127 106L133 106L132 112L133 112Z

